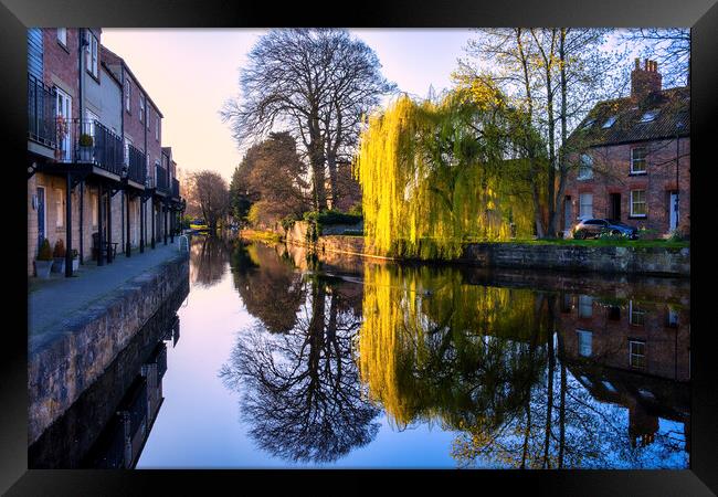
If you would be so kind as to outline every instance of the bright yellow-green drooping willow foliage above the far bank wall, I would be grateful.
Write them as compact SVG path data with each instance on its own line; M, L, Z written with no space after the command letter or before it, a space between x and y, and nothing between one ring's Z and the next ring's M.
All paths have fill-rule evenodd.
M365 123L355 175L376 253L455 258L467 241L531 234L529 165L511 137L519 115L495 87L475 86L440 102L404 95Z

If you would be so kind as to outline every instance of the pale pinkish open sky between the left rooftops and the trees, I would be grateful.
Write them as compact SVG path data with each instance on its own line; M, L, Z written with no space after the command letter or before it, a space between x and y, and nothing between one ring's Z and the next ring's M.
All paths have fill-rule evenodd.
M350 30L371 46L399 89L425 96L451 85L469 30ZM103 29L102 43L125 59L165 116L162 146L183 172L211 169L230 181L242 160L219 112L237 95L240 67L266 31Z

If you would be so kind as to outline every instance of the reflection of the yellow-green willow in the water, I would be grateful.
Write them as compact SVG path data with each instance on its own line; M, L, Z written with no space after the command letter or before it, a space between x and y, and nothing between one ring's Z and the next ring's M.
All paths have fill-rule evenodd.
M543 360L527 352L547 339L536 298L467 285L455 268L367 264L358 357L370 398L400 427L500 423Z

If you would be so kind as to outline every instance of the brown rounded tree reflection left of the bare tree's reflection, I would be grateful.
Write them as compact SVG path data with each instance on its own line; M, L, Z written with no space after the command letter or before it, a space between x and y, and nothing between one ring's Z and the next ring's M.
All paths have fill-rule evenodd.
M232 253L232 273L246 310L266 329L284 332L295 326L305 290L289 260L278 257L274 247L239 242Z

